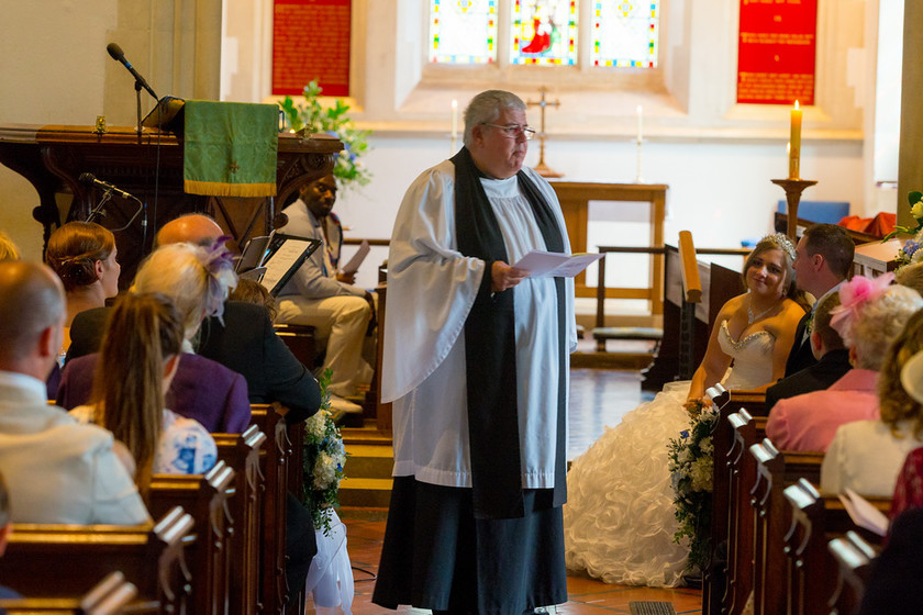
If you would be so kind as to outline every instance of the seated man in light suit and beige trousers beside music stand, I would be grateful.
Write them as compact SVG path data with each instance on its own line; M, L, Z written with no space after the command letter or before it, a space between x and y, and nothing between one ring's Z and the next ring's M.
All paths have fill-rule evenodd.
M326 342L323 370L333 372L331 405L360 412L342 398L355 396L357 385L371 380L371 368L363 359L363 342L375 302L371 293L354 286L354 273L340 270L342 231L331 217L335 202L336 180L327 175L305 186L301 198L282 210L288 224L278 233L320 239L323 245L279 292L276 321L316 328L318 339Z

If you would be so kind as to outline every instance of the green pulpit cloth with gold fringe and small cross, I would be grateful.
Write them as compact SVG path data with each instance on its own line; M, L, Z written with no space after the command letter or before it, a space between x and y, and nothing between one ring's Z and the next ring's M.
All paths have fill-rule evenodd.
M279 108L186 101L184 188L212 197L276 194Z

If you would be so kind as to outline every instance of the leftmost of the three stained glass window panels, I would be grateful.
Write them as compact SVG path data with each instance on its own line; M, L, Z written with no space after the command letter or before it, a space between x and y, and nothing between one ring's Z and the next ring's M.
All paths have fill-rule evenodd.
M497 1L430 0L430 62L496 62Z

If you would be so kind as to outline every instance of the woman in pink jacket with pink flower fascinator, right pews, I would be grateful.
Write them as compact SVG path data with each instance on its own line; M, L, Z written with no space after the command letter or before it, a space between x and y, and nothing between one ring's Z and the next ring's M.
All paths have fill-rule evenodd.
M812 347L835 346L842 337L853 369L826 390L776 403L766 435L779 449L824 451L841 425L878 418L878 371L904 323L923 308L916 291L889 286L892 279L857 276L818 306Z

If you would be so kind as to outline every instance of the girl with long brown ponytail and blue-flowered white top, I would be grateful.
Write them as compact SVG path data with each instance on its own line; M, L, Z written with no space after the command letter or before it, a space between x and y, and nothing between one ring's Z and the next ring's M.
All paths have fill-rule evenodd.
M107 324L91 404L70 412L105 427L127 446L142 493L152 474L201 474L218 459L211 434L164 404L182 339L182 321L169 298L122 295Z

